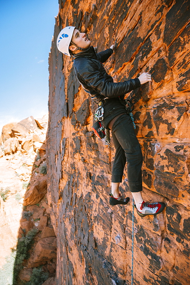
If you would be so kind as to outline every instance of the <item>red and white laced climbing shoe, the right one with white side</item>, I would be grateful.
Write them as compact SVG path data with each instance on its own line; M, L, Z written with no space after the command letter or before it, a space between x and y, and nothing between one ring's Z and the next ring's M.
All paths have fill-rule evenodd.
M160 214L164 208L166 207L166 205L162 202L156 202L156 203L150 203L150 201L148 202L144 202L141 205L141 211L139 211L136 207L136 205L134 205L134 208L137 209L137 214L140 217L145 217L147 215L157 215Z

